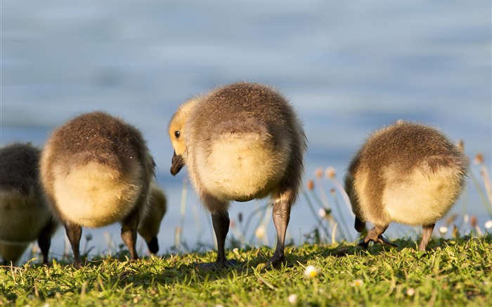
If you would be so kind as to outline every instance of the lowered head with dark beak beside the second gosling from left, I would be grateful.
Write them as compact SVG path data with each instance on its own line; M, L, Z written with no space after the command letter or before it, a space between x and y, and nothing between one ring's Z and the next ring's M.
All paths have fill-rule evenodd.
M150 194L148 197L148 212L143 216L138 234L147 243L148 250L152 254L159 252L159 242L157 234L160 230L160 223L167 211L167 199L164 192L157 186L155 180L150 182Z

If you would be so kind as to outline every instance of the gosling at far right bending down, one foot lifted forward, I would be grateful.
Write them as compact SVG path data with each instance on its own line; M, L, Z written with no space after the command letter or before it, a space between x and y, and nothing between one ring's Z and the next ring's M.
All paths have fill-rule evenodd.
M389 223L422 225L425 251L436 221L451 209L465 185L468 159L436 129L398 121L368 138L349 164L345 189L356 216L355 228L374 228L358 244L389 242Z

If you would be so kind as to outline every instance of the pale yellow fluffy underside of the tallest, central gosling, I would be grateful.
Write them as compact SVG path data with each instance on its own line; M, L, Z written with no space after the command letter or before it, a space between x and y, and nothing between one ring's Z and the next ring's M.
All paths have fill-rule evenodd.
M195 147L195 167L207 191L224 200L265 197L283 177L290 150L280 144L274 150L257 133L234 133Z

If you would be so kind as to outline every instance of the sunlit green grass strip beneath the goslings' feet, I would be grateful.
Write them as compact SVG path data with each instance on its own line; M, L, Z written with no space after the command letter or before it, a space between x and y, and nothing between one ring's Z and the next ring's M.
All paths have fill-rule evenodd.
M287 263L275 270L261 270L273 253L266 247L228 249L240 266L217 272L195 267L215 252L134 263L120 252L80 270L27 263L0 268L0 306L491 306L492 235L434 238L426 253L413 240L396 243L287 247ZM318 275L304 276L306 266Z

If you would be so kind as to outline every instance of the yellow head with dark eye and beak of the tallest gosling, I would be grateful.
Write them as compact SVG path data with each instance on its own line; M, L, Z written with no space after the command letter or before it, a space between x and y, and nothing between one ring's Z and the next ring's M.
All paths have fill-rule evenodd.
M171 160L171 174L175 176L186 165L186 122L190 117L198 98L192 98L176 110L169 122L169 138L174 154Z

